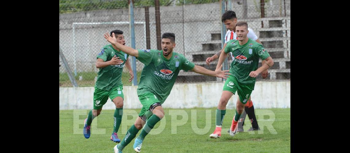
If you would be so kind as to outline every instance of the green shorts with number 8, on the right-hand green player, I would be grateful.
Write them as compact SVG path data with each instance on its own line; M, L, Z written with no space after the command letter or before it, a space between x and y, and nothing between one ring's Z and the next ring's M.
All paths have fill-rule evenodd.
M225 91L230 91L233 94L238 93L239 100L246 104L250 95L252 94L252 91L254 90L255 84L241 84L238 83L237 78L234 76L231 76L227 78L224 89Z

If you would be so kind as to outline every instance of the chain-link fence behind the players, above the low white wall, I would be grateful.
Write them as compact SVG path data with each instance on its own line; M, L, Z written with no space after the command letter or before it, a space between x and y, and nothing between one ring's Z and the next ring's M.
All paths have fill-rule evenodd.
M157 49L154 0L133 2L135 49ZM290 0L265 0L264 4L263 18L260 1L225 1L225 10L232 9L238 21L246 21L274 59L269 76L262 79L259 75L257 79L290 79ZM96 56L103 46L109 44L103 38L103 33L122 30L125 45L131 46L128 1L60 0L59 6L59 46L62 53L78 86L94 86L99 71L95 67ZM145 7L149 10L150 48L146 47ZM217 60L208 66L205 59L222 48L220 1L160 0L160 23L161 33L175 33L174 52L184 54L196 65L215 70ZM231 61L229 58L229 63ZM136 63L139 82L144 64L138 60ZM61 56L59 65L59 86L73 86ZM127 82L128 78L127 69L124 68L124 85L132 85ZM217 78L181 70L176 80L178 83L207 81L217 81Z

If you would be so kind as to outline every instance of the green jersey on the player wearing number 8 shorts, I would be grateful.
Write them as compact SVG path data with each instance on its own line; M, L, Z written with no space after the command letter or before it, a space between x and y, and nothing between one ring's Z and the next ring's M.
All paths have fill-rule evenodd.
M258 69L259 58L265 60L270 56L261 44L252 39L244 45L239 45L238 40L230 40L225 47L225 53L228 52L232 52L233 56L230 75L242 84L255 84L250 72Z

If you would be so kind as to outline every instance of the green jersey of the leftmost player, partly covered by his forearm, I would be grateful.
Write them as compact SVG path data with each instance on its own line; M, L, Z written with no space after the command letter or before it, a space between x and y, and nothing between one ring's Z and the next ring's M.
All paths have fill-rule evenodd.
M106 45L101 49L101 52L97 55L97 59L103 59L106 62L110 61L114 55L116 55L116 57L119 57L119 59L123 60L123 63L100 68L95 84L95 86L98 89L111 90L114 86L123 85L123 83L121 82L121 74L123 73L123 67L129 55L124 53L123 51L117 51L112 47L112 45Z

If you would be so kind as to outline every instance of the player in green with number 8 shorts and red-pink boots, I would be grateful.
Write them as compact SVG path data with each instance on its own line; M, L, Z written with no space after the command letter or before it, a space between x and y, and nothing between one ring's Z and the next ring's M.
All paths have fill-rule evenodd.
M262 71L273 66L273 60L265 48L247 37L248 24L246 22L237 22L236 32L237 40L230 40L227 43L224 52L219 56L219 61L216 66L216 71L221 70L219 66L223 63L228 53L232 53L234 59L230 65L230 77L224 84L223 92L217 107L216 128L209 136L210 138L221 137L221 126L226 113L226 104L237 91L239 98L236 104L236 115L233 117L230 128L230 135L235 136L238 119L244 110L244 105L247 103L250 94L254 90L255 77ZM261 58L261 60L266 60L266 62L258 69L259 58Z

